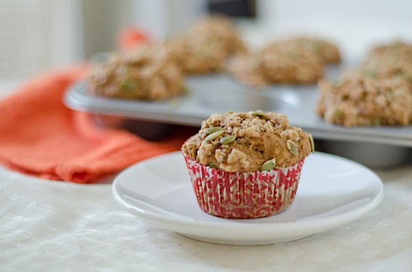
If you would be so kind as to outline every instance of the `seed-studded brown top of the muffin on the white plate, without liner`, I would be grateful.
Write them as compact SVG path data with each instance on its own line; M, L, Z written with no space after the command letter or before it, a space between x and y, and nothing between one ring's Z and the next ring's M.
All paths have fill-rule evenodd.
M312 136L285 115L253 111L211 115L182 146L198 163L226 172L288 167L314 150Z

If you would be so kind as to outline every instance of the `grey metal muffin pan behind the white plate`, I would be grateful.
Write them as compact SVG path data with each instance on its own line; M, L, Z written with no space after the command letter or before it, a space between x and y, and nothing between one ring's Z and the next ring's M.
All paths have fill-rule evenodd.
M327 76L334 77L338 71L329 69ZM229 75L212 74L190 76L185 86L188 91L179 98L144 102L91 95L87 82L81 81L67 90L64 102L71 109L93 114L102 125L133 128L130 121L136 121L131 130L147 139L161 138L171 124L198 127L213 113L260 109L286 115L290 124L321 140L323 151L372 168L395 166L411 157L412 126L346 128L324 122L314 112L319 92L316 84L251 88Z

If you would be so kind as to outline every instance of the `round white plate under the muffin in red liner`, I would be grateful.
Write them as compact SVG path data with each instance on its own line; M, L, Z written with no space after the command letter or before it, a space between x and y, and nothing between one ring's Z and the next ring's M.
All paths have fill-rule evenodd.
M121 172L113 196L130 213L183 236L226 245L270 245L360 218L382 200L383 185L361 164L315 152L306 158L290 207L267 218L225 219L198 207L183 155L172 152Z

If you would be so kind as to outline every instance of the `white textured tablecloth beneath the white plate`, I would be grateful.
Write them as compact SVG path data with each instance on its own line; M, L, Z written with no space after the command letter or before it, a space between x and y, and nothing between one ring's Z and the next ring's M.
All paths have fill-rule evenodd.
M285 244L226 246L145 223L115 202L110 183L0 167L0 271L410 272L412 166L378 174L384 199L353 223Z

